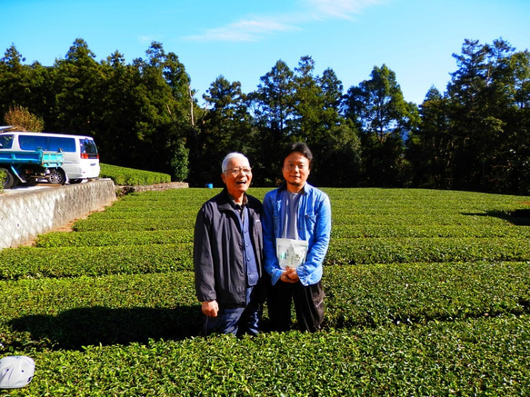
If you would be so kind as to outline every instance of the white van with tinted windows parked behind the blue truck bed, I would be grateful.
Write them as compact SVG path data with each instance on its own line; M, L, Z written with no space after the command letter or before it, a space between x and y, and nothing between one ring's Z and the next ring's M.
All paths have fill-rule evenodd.
M1 131L0 150L62 152L64 164L52 180L54 184L78 184L99 177L99 154L94 138L85 135Z

